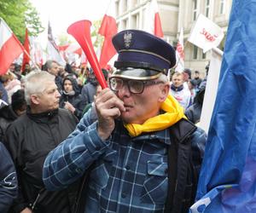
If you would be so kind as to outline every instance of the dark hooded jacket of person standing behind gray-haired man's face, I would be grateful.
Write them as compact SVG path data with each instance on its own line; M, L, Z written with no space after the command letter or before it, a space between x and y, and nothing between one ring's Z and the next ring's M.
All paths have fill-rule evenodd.
M74 91L73 95L67 94L64 90L64 82L66 79L72 82ZM82 95L79 94L79 85L76 80L68 76L64 78L62 83L62 91L63 92L60 99L60 107L63 108L65 106L65 102L68 101L76 109L74 115L79 119L82 118L84 107L86 106L86 101L83 99Z

